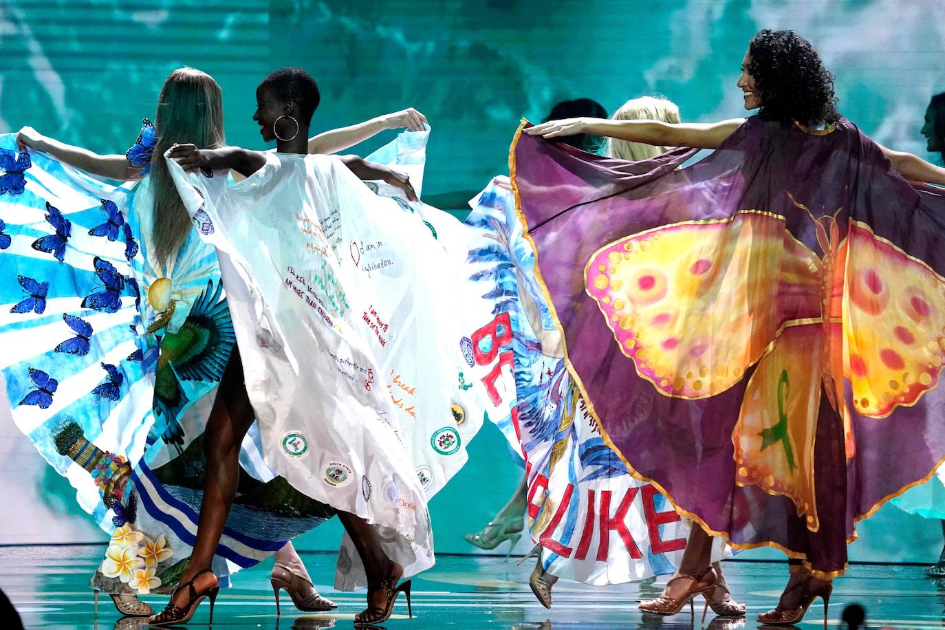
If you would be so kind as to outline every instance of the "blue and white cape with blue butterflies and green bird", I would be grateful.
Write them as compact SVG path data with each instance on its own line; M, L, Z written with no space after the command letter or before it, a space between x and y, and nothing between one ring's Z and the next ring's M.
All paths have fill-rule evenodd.
M12 416L112 534L93 587L173 587L202 498L202 434L234 337L213 247L196 230L153 257L149 178L132 190L0 136L0 370ZM28 308L27 308L28 307ZM254 438L255 437L255 441ZM334 512L275 478L250 430L214 570L250 567ZM143 571L143 572L141 572Z

